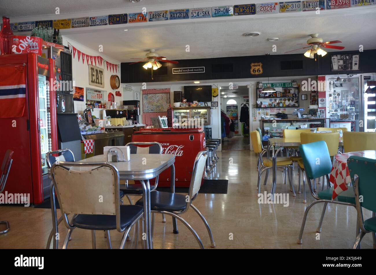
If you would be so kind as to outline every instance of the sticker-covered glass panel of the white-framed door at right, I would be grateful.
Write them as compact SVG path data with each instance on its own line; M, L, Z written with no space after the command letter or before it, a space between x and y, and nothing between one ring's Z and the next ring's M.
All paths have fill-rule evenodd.
M359 115L359 77L329 79L330 121L354 121Z

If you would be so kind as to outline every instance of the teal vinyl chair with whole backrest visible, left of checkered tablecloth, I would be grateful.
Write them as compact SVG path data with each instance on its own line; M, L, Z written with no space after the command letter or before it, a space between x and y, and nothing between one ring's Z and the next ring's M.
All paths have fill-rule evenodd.
M327 182L329 182L329 176L332 170L332 160L329 156L329 150L327 148L325 141L317 141L307 144L300 144L299 146L300 154L302 155L306 179L308 182L309 189L311 189L312 196L316 199L314 202L308 205L307 209L304 212L302 227L300 228L299 237L297 243L302 244L302 236L304 231L305 222L307 219L307 215L311 207L319 202L324 202L323 212L321 213L320 222L318 227L316 228L316 232L321 232L321 224L324 219L326 206L328 203L336 203L336 204L343 204L347 206L355 205L355 194L353 190L350 188L341 193L341 195L337 196L335 201L332 201L332 193L333 187L329 189L324 189L317 194L315 193L311 180L315 178L320 178L322 176L326 177ZM357 223L357 231L359 232L359 225Z

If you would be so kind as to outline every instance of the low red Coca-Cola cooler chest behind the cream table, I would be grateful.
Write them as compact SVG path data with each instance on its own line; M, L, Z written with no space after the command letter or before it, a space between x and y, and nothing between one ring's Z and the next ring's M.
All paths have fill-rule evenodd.
M205 150L205 134L202 129L152 128L140 129L132 135L133 142L156 141L162 145L163 154L175 155L175 187L189 187L193 163L200 151ZM158 186L170 186L171 170L159 175ZM203 184L203 180L201 182Z

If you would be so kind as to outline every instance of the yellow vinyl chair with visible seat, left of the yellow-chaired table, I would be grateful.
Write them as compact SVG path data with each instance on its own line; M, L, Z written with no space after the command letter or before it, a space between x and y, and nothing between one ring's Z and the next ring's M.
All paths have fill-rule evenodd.
M258 131L251 131L250 132L251 141L252 141L252 147L256 154L259 155L259 161L261 164L261 169L258 171L258 178L257 178L257 190L258 194L260 193L260 187L261 187L261 175L264 171L268 171L268 169L273 168L273 160L272 159L266 159L262 160L262 155L265 154L266 150L262 150L261 145L261 138ZM294 190L294 184L293 184L293 162L288 157L280 157L277 159L277 168L287 168L288 169L288 179L290 183L290 190L293 192L293 196L296 196L295 190ZM287 171L286 171L287 173ZM264 185L266 185L268 174L265 175L265 181ZM273 189L273 188L272 188Z

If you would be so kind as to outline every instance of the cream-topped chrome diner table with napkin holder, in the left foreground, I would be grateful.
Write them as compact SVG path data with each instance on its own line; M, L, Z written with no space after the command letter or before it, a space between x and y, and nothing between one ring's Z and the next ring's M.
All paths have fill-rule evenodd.
M107 156L98 155L89 157L77 162L105 162ZM144 193L144 233L146 233L146 248L153 248L152 245L152 223L150 209L150 183L149 180L157 177L166 169L171 169L171 193L175 192L175 155L174 154L131 154L127 162L110 162L118 171L121 180L138 180L143 185ZM75 168L76 169L76 168ZM90 169L85 166L83 169ZM53 236L58 236L58 220L56 216L55 188L51 185L51 204L53 217ZM177 232L176 218L173 218L174 231ZM51 235L50 235L51 237ZM53 248L58 248L58 238L53 238ZM50 239L47 248L50 246Z

